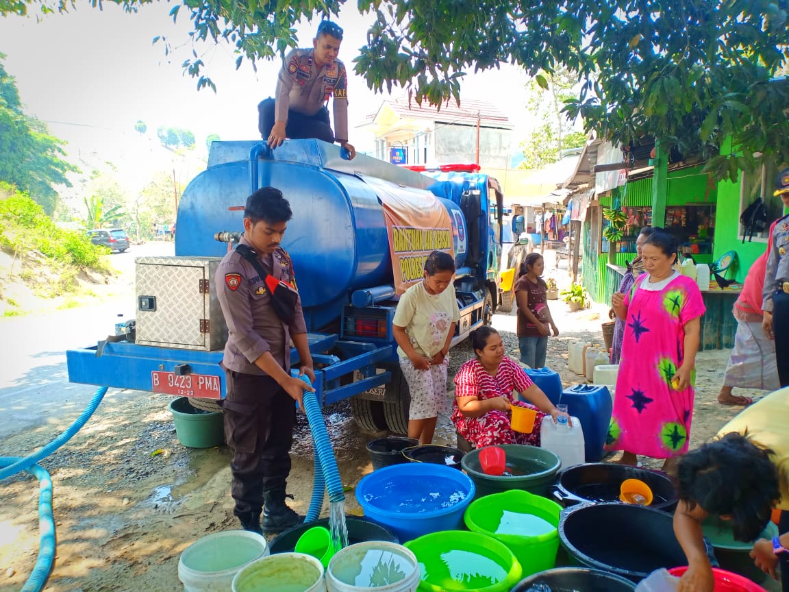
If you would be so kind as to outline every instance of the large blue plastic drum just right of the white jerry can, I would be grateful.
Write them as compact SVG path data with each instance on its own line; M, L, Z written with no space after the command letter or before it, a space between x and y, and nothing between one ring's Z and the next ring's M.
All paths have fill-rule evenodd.
M598 462L603 458L603 445L608 434L608 424L611 422L611 411L614 408L608 387L576 384L564 389L561 402L567 404L570 416L581 421L586 462ZM556 401L553 403L555 404Z

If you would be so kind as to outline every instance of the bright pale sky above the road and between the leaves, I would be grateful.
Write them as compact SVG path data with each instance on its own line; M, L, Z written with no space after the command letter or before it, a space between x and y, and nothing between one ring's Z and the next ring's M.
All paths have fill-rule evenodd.
M138 13L124 13L114 2L105 2L102 11L78 3L71 13L48 15L38 23L30 17L0 18L0 52L7 55L6 69L17 78L28 112L47 122L122 131L133 129L137 119L147 122L148 129L185 127L193 129L199 144L208 133L222 139L257 137L256 104L273 94L279 59L259 62L257 72L246 60L235 70L233 47L200 44L196 51L218 91L197 92L196 81L181 71L193 49L188 13L181 10L173 24L167 16L172 6L155 2ZM372 15L357 13L351 2L337 21L345 29L340 58L349 63L365 40ZM302 47L311 43L316 24L297 26ZM170 39L174 54L165 56L161 43L151 44L159 35ZM491 92L491 78L509 84L503 73L469 78L473 80L464 85L469 97L497 103L510 94L509 88ZM351 125L375 111L381 98L352 74Z

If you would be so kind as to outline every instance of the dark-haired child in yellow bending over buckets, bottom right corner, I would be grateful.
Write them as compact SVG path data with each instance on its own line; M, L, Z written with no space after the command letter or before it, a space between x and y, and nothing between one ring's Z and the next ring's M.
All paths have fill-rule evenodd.
M781 510L779 536L753 543L750 556L789 592L789 388L773 392L724 425L718 439L679 459L674 532L688 559L680 592L712 592L714 583L701 523L717 515L735 538L753 541Z

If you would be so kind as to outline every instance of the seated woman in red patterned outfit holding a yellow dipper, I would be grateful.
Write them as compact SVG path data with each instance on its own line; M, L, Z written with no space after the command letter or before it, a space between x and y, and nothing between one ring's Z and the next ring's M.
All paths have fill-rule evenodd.
M559 415L553 403L537 384L533 384L518 362L504 355L499 332L483 326L471 332L471 346L477 357L463 364L455 374L455 399L452 422L477 448L493 444L540 445L540 425L550 415ZM515 401L519 392L531 403ZM537 410L532 433L514 432L510 427L510 406Z

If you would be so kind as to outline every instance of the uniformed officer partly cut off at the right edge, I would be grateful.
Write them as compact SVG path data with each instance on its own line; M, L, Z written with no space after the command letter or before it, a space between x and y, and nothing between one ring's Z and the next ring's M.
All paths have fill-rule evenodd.
M776 192L783 200L783 208L789 208L789 169L784 169L776 178ZM789 215L779 219L772 228L772 249L767 257L765 269L764 302L765 313L762 328L765 335L776 340L776 362L778 380L782 387L789 386Z

